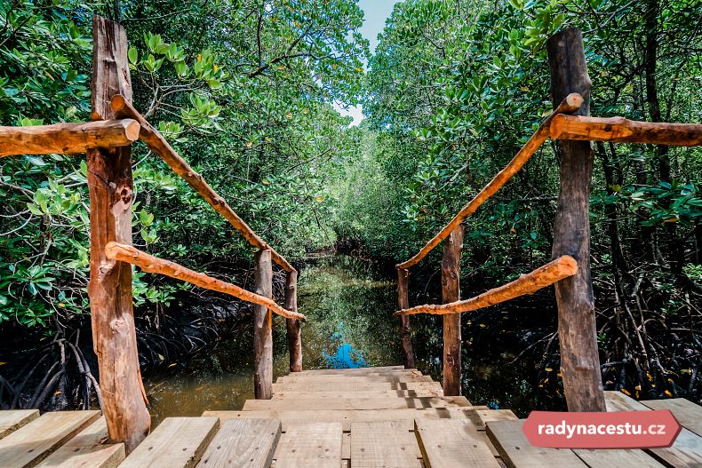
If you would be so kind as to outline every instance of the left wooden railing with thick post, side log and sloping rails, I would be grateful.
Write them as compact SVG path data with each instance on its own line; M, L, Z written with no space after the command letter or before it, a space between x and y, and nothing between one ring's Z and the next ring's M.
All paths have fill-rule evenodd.
M132 107L127 39L117 23L93 17L92 120L33 127L0 127L0 157L27 154L87 153L90 193L91 271L88 295L92 337L100 368L102 409L111 440L127 451L151 426L140 377L132 305L132 265L250 302L254 307L254 393L273 394L272 313L286 318L290 370L302 370L297 311L298 272L195 172L139 112ZM256 291L251 292L203 273L156 258L132 246L133 180L131 145L137 139L201 194L236 231L258 249ZM272 262L286 272L284 306L273 299Z

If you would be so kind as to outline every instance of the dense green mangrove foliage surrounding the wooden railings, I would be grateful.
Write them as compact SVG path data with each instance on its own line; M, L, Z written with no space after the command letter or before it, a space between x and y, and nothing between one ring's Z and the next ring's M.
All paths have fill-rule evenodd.
M583 30L593 115L702 121L696 0L406 0L372 56L355 0L9 0L0 124L88 120L93 13L127 31L135 107L291 261L339 240L414 254L550 112L545 42L563 28ZM334 102L362 103L365 122L349 127ZM607 385L699 394L702 151L594 149ZM146 147L132 158L135 245L246 284L251 246ZM0 164L4 330L60 336L88 313L85 177L76 156ZM550 258L557 189L548 143L467 221L464 295ZM439 255L420 278L436 277ZM186 290L135 274L138 314L159 323Z

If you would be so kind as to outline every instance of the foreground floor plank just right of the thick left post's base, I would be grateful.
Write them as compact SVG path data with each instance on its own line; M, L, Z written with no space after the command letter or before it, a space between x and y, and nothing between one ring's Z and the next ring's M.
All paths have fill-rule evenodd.
M127 456L120 468L190 468L217 432L216 417L169 417Z

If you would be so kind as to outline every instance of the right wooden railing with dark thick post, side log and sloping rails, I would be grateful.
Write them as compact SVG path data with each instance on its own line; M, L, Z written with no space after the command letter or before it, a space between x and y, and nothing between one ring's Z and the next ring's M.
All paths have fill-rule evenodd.
M588 217L593 170L590 141L699 146L702 145L702 125L635 122L623 117L588 116L591 83L587 76L580 31L576 28L562 31L551 37L546 45L551 67L554 112L539 126L505 169L499 171L459 214L414 257L396 266L400 310L395 315L402 319L403 354L408 368L415 367L409 315L443 315L443 393L459 395L460 313L533 294L555 284L561 371L568 408L572 411L604 411L589 266ZM561 181L554 223L554 260L529 274L523 274L514 282L460 300L459 266L463 244L461 224L522 169L549 137L562 140L559 147ZM408 268L417 265L441 242L445 242L442 261L443 304L410 307Z

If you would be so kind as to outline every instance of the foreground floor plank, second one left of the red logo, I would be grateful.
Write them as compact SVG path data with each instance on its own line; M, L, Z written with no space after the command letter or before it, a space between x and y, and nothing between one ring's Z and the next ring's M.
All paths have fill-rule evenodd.
M414 422L427 468L499 467L470 420L415 419Z

